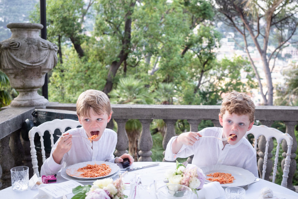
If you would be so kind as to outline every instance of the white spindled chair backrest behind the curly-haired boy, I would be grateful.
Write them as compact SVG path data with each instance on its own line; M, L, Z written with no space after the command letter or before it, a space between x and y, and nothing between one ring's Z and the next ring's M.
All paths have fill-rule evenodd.
M285 164L284 164L284 169L283 169L283 180L281 182L281 186L287 187L287 179L288 179L288 173L289 173L289 168L290 168L290 163L291 163L291 149L293 145L293 138L288 134L288 133L283 133L278 129L266 127L264 125L256 126L253 125L252 129L250 129L248 132L246 132L246 137L247 135L252 134L254 135L254 149L257 150L257 144L258 144L258 139L261 135L265 136L266 138L266 149L265 149L265 155L264 155L264 163L263 163L263 171L262 171L262 179L265 178L265 173L266 173L266 168L267 168L267 160L268 160L268 147L269 147L269 141L271 138L275 138L277 141L277 146L276 146L276 153L275 153L275 158L274 158L274 166L273 166L273 178L272 182L275 182L275 176L277 172L277 163L278 163L278 156L279 156L279 149L280 149L280 143L285 140L288 145L288 151L286 153L286 158L285 158ZM280 165L281 166L281 165Z

